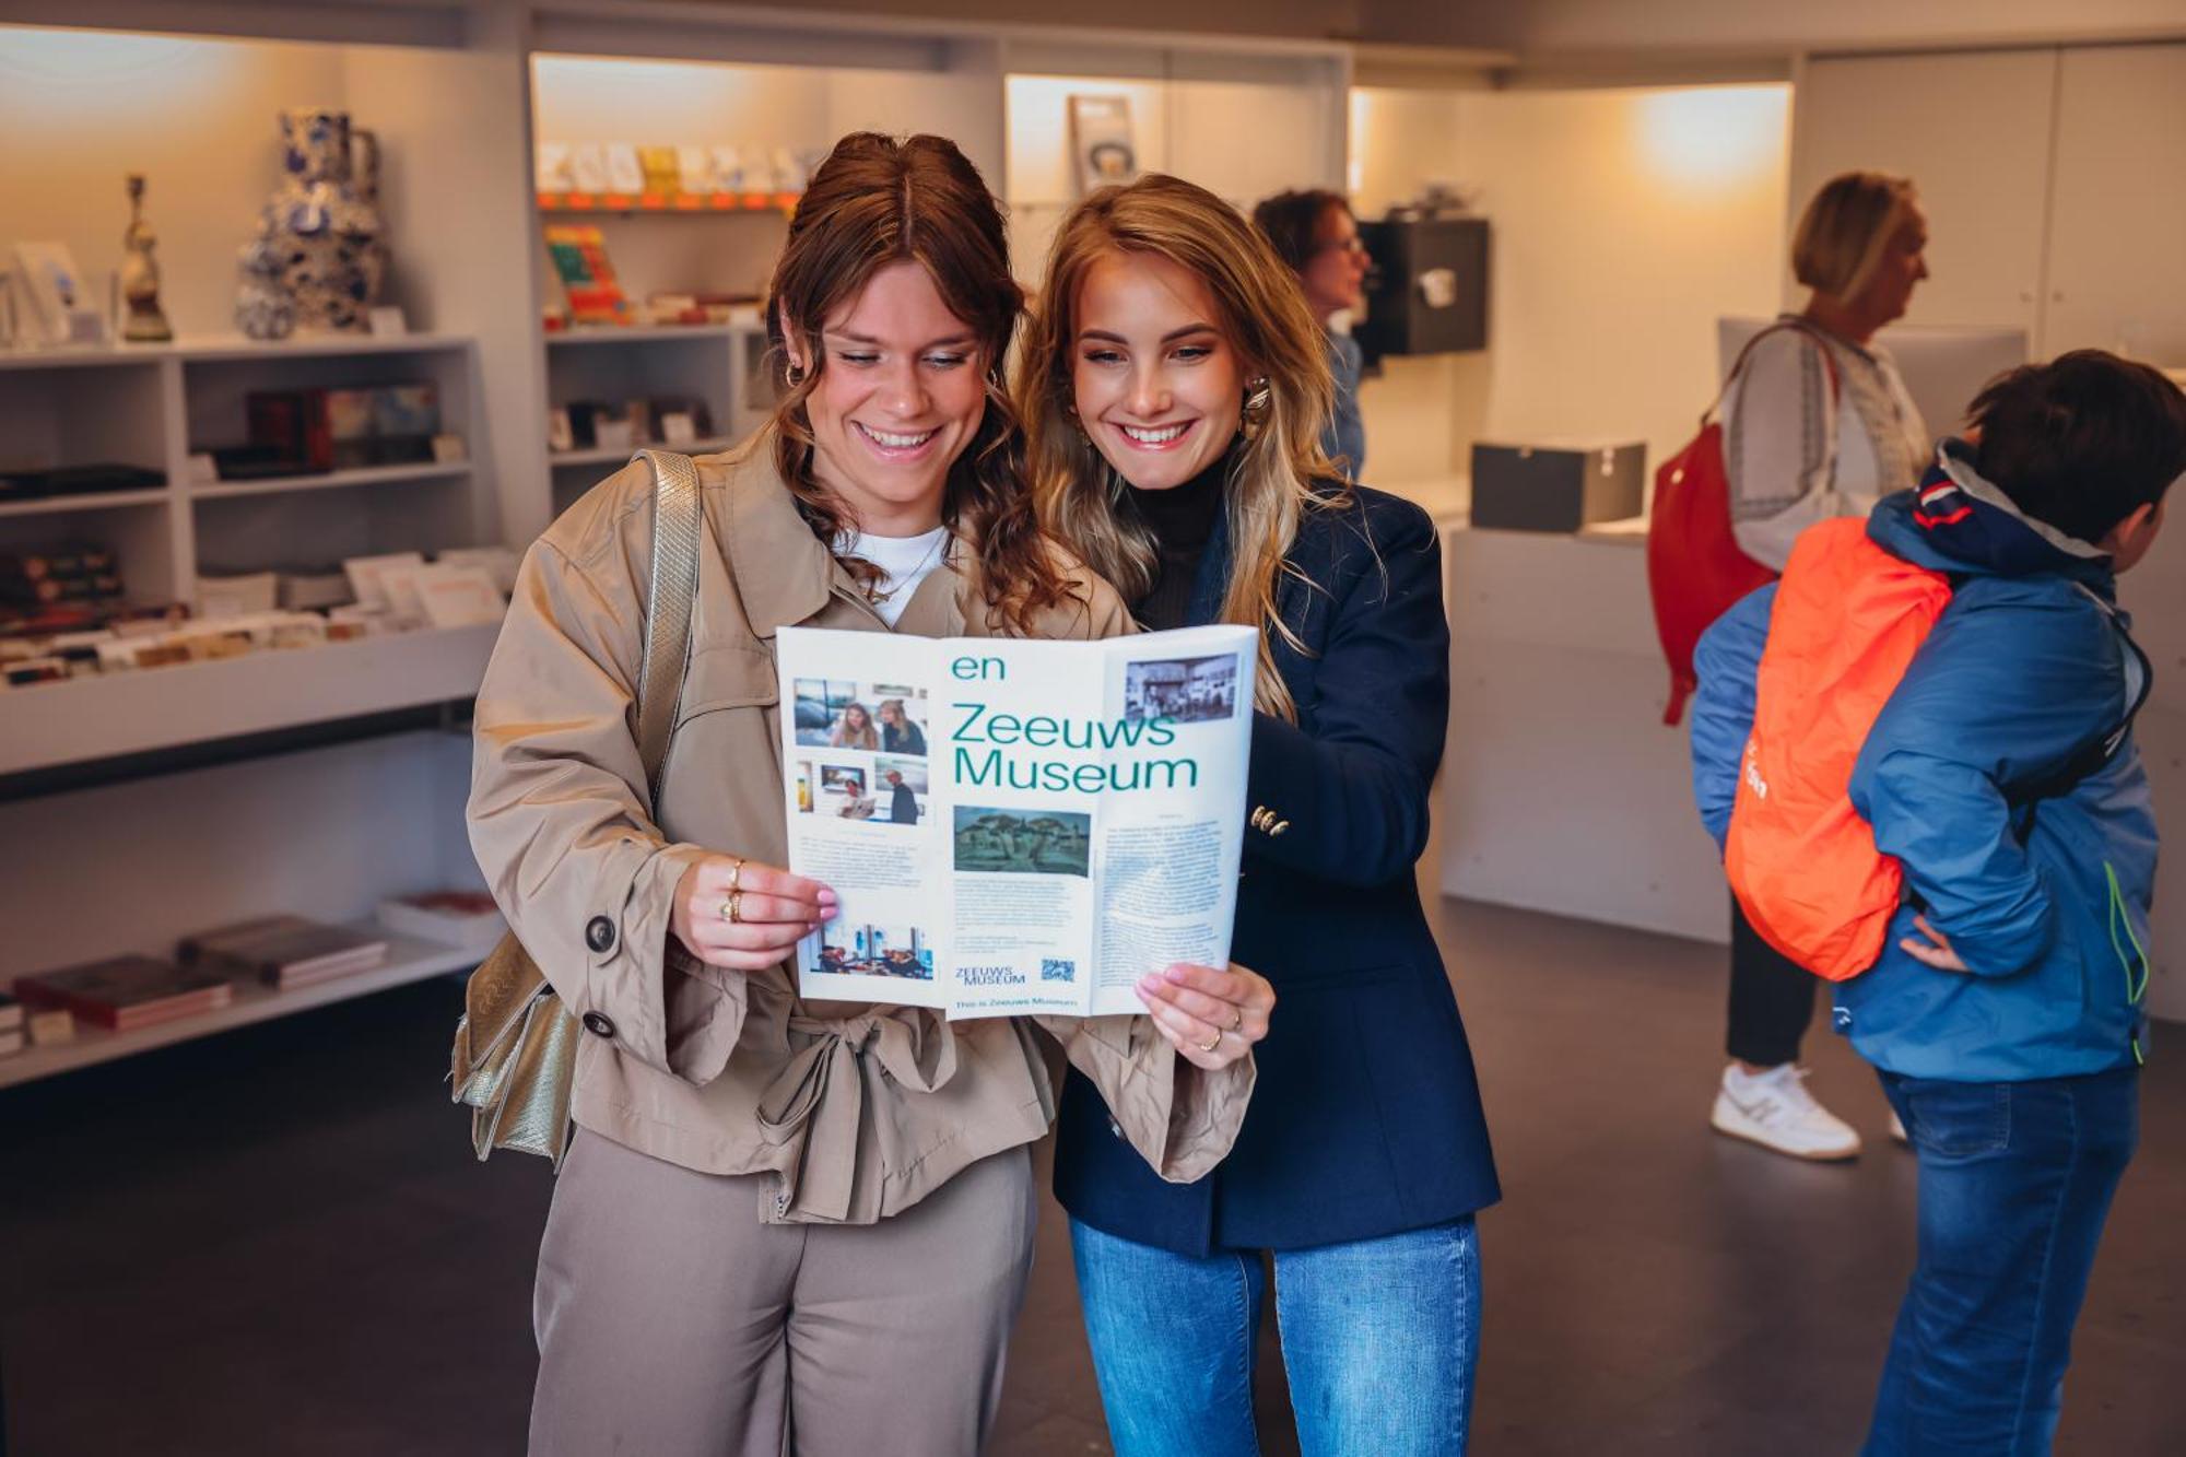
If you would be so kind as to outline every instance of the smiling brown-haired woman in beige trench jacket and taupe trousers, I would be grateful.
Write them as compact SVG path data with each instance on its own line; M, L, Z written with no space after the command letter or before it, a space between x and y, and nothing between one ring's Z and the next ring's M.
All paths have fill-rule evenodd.
M774 271L787 389L704 457L675 731L632 728L651 483L632 466L525 558L477 711L472 844L579 1015L575 1142L540 1247L533 1453L973 1453L1032 1258L1030 1019L809 1002L835 895L787 858L783 626L1102 637L1115 593L1038 529L999 368L1001 210L938 138L844 138ZM1266 982L1209 974L1264 1026ZM1248 1035L1043 1019L1163 1179L1231 1144Z

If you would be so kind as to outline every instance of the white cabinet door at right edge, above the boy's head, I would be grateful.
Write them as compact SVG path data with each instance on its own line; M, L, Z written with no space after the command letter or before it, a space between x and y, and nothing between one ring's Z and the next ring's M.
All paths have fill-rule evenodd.
M2040 352L2186 363L2186 44L2064 53Z

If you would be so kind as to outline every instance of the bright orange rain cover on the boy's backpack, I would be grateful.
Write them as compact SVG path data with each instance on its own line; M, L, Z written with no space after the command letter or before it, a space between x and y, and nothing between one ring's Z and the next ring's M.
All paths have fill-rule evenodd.
M1762 941L1832 982L1876 965L1904 886L1852 766L1946 606L1950 580L1860 516L1808 527L1777 586L1723 864Z

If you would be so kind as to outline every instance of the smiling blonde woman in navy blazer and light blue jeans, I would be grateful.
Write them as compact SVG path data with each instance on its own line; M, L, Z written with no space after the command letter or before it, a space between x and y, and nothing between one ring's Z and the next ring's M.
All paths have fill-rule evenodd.
M1121 1457L1257 1450L1272 1251L1307 1453L1465 1448L1495 1164L1419 901L1449 630L1427 514L1318 444L1320 330L1268 241L1145 177L1060 225L1016 376L1041 518L1148 628L1261 630L1233 947L1277 987L1231 1157L1135 1168L1069 1079L1056 1194ZM1207 1037L1233 1013L1187 998Z

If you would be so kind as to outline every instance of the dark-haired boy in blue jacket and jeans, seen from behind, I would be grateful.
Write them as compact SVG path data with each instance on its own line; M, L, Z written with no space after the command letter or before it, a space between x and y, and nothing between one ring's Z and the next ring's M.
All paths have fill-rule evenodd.
M1852 805L1904 866L1836 1030L1919 1155L1919 1260L1869 1457L2048 1453L2072 1324L2138 1140L2155 818L2131 739L2149 661L2116 573L2186 473L2186 396L2096 350L2026 365L1867 534L1950 606L1876 720ZM1701 639L1692 774L1720 844L1775 588Z

